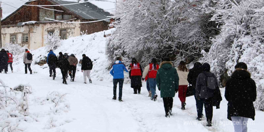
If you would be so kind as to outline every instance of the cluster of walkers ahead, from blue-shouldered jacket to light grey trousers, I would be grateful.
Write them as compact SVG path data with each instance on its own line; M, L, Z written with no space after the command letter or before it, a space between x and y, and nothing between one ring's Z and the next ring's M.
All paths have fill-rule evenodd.
M87 83L86 77L88 77L89 83L92 83L90 72L92 70L93 63L91 59L83 54L82 60L80 62L82 63L81 70L83 72L84 83ZM78 59L74 54L69 56L67 53L62 54L62 52L59 52L59 56L57 57L56 54L50 49L49 54L47 55L47 64L49 65L49 76L53 76L53 80L55 80L56 77L56 68L60 68L63 79L62 83L67 84L66 79L68 78L68 73L70 76L70 81L74 82L78 64Z

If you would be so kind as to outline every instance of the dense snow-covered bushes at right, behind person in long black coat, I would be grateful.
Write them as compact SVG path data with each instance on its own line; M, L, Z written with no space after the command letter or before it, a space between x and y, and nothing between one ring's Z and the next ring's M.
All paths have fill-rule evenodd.
M264 109L264 1L219 0L212 21L219 23L220 35L212 39L208 54L201 59L211 63L218 77L229 75L238 62L245 62L257 85L259 110Z

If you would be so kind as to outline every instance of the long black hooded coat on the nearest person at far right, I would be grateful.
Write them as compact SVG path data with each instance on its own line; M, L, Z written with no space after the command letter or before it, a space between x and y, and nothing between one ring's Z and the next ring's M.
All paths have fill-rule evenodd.
M226 82L227 119L241 116L255 119L256 83L247 70L237 68Z

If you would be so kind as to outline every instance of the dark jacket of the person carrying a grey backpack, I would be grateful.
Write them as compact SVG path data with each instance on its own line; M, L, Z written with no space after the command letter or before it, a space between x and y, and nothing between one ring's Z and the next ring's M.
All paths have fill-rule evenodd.
M200 73L197 80L196 80L196 97L200 97L200 98L211 98L214 97L214 93L212 91L209 91L207 89L207 77L205 76L205 74L207 76L213 76L215 81L216 81L216 85L217 85L217 89L219 89L219 84L217 81L216 76L214 75L214 73L211 72L203 72Z

